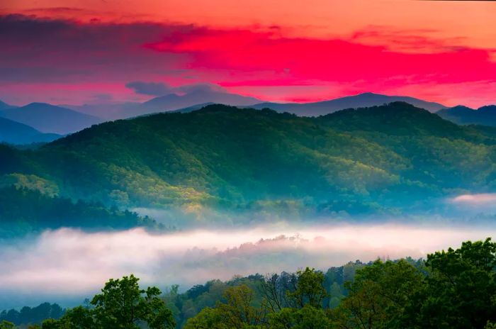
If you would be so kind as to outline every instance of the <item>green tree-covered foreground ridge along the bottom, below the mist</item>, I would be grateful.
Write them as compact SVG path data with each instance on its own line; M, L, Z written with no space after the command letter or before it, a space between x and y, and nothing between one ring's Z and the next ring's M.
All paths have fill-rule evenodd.
M164 295L141 289L131 275L111 279L87 306L45 320L42 328L490 329L495 269L496 243L488 238L427 260L213 280L184 294L177 286Z

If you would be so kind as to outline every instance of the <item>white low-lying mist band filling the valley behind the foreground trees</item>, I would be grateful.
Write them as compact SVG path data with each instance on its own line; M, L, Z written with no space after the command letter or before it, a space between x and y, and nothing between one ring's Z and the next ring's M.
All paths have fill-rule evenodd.
M45 231L1 246L0 308L41 301L80 303L113 277L188 289L210 279L327 269L378 257L424 257L465 240L495 236L496 226L278 223L232 230L149 233Z

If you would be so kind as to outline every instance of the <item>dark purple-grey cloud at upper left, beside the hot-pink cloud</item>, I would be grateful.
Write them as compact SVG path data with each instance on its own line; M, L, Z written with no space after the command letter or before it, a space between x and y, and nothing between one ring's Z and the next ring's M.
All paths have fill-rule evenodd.
M125 82L130 74L137 79L176 74L184 55L156 54L142 45L192 28L0 16L0 81Z

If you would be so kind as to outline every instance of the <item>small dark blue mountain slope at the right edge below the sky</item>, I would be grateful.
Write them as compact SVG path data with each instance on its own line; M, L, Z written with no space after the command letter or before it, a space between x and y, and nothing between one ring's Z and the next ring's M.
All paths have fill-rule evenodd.
M496 126L496 105L483 106L474 110L466 106L444 108L437 112L441 118L461 125L476 124Z

